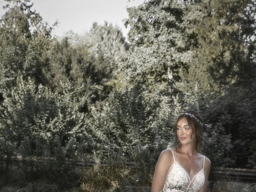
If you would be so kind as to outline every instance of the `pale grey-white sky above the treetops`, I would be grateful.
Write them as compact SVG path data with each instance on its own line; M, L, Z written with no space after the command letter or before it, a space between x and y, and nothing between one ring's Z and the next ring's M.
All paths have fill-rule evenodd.
M117 25L127 36L123 20L128 18L127 7L138 6L144 0L31 0L34 9L42 18L52 25L56 20L59 24L53 34L63 36L72 30L81 34L89 31L93 22L104 24L104 21ZM0 0L0 16L4 14L2 6L6 5ZM32 8L33 9L33 8Z

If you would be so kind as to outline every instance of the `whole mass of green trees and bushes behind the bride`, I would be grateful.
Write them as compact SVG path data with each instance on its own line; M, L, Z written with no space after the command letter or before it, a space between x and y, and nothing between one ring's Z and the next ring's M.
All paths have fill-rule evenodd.
M2 189L148 191L187 109L212 170L256 168L255 0L145 0L127 10L128 41L107 22L58 40L29 0L5 9Z

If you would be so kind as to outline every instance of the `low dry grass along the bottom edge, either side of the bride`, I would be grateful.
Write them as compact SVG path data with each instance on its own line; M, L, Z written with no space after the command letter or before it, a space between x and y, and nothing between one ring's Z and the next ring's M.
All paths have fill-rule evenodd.
M54 170L53 170L54 171ZM72 174L81 175L80 180L73 182L68 187L60 186L60 182L49 182L49 180L21 180L16 170L15 182L0 182L1 192L150 192L152 170L148 170L148 178L140 168L126 168L124 162L106 164L106 166L81 167L62 175L64 181L72 179ZM56 181L60 178L56 178ZM219 178L217 181L209 182L208 192L254 192L256 182L244 182L228 177Z

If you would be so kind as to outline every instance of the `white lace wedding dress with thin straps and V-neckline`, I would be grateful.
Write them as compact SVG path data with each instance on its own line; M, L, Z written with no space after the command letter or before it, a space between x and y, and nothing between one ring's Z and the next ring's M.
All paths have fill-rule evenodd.
M172 151L172 149L169 149ZM198 192L204 185L204 162L202 163L202 169L191 179L186 170L175 160L174 153L172 151L174 162L170 166L164 187L167 186L182 186L185 189L184 192ZM205 156L204 156L205 160Z

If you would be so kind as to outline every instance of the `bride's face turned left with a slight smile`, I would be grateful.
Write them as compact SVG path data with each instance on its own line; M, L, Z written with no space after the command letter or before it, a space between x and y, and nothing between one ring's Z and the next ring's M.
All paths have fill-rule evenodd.
M193 130L188 125L188 121L185 117L182 117L180 120L178 120L176 131L178 139L182 145L194 144L194 141L192 140Z

